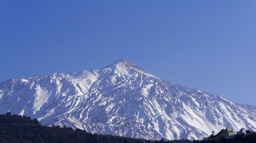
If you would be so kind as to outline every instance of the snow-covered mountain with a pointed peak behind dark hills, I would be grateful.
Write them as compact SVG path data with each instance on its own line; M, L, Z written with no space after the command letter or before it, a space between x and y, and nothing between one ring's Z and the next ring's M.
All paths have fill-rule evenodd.
M2 82L0 113L8 111L42 125L145 139L256 131L256 107L166 82L123 59L102 69Z

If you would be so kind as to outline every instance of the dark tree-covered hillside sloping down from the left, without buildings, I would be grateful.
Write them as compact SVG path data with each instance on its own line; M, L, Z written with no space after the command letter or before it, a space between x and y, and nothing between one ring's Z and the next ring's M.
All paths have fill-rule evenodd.
M140 143L140 142L163 142L142 140L112 135L91 134L85 130L72 128L60 128L59 126L41 126L36 120L30 117L22 117L7 113L0 115L0 142L84 142L84 143ZM173 140L166 143L191 143L190 140Z

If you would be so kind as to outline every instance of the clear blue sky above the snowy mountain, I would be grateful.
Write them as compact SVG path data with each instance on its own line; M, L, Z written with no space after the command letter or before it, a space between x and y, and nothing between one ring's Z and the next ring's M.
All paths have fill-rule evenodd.
M256 1L0 1L0 82L121 58L256 106Z

